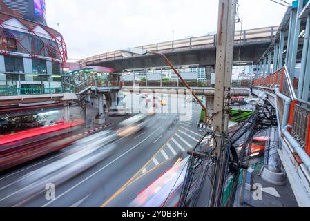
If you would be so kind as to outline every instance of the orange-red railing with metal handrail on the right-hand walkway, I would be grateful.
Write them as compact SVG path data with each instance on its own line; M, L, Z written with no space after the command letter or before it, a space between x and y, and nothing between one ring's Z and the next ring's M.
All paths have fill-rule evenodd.
M291 99L288 125L292 137L302 146L310 156L310 103L296 98L294 85L287 71L287 67L275 73L260 77L253 81L253 88L274 91L278 88L282 95Z

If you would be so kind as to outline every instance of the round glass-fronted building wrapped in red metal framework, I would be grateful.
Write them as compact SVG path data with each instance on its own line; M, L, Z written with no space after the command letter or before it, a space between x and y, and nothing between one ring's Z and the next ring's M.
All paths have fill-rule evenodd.
M0 88L61 88L66 44L59 32L45 26L45 2L0 4Z

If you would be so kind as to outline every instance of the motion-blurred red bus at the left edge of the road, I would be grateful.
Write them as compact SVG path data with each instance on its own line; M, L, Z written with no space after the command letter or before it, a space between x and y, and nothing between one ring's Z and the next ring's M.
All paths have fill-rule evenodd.
M65 148L81 138L77 134L83 131L84 125L85 122L60 122L0 135L0 171Z

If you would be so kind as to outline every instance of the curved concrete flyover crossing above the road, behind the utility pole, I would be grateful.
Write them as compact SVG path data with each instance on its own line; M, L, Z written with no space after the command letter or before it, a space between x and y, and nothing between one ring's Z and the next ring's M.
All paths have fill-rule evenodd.
M278 31L278 26L255 28L250 30L235 31L235 55L242 55L235 61L256 61L266 50ZM206 36L188 37L173 41L148 44L135 48L152 52L165 53L171 62L177 65L199 64L200 66L215 65L215 47L217 45L217 34L210 33ZM242 46L241 48L239 46ZM155 55L128 55L122 50L105 52L82 59L79 63L86 66L106 66L121 73L124 69L148 68L150 66L163 66L165 61Z

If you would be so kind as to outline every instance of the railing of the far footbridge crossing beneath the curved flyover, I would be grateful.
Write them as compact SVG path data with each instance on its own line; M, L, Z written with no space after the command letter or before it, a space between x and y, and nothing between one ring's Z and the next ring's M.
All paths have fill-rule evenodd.
M188 86L192 88L213 88L214 82L207 81L186 81ZM122 86L124 87L159 87L159 88L185 88L185 85L182 84L181 81L122 81ZM251 81L250 80L240 80L240 81L232 81L233 88L250 88Z

